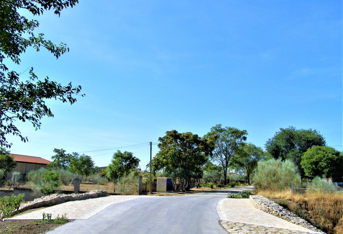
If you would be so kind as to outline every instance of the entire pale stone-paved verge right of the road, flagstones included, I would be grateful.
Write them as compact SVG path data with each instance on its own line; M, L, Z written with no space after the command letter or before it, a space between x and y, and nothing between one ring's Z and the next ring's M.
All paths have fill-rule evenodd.
M216 209L229 233L318 233L256 209L249 199L225 198Z

